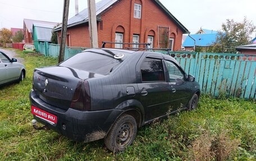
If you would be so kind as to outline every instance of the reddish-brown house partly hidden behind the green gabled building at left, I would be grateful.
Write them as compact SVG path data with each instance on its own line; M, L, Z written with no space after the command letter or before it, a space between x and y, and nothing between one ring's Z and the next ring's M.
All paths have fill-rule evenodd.
M38 21L38 20L23 20L23 34L25 43L33 43L32 27L33 23L46 24L56 26L57 22L47 22L47 21Z

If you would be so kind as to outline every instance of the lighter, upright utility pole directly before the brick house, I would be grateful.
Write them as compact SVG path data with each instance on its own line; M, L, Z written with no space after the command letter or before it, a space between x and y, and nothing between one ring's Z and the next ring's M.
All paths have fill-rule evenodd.
M95 0L87 0L89 15L90 47L98 48L98 31L96 20Z

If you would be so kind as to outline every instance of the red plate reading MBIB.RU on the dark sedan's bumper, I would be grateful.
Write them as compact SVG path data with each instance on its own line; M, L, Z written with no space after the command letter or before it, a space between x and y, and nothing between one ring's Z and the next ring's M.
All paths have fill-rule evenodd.
M34 114L36 117L42 118L51 124L57 123L57 116L46 112L43 109L37 108L34 105L31 105L31 113Z

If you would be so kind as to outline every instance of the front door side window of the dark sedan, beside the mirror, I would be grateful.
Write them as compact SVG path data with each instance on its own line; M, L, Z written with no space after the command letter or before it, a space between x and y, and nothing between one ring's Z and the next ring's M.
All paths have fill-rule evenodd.
M184 73L180 71L180 68L171 61L166 61L166 67L169 73L170 81L183 81Z

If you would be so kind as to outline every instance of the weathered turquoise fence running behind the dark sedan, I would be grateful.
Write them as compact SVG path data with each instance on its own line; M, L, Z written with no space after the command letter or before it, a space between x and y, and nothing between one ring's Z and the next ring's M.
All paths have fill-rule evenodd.
M39 52L58 57L60 45L41 43ZM85 48L65 49L65 59ZM202 93L213 96L256 98L256 55L196 52L163 52L174 57L186 73L195 76Z

